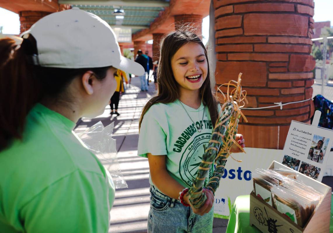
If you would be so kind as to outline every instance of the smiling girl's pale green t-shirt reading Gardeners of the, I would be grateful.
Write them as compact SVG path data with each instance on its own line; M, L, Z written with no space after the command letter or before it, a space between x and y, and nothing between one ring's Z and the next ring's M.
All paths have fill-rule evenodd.
M147 157L166 155L166 170L184 187L190 187L197 175L198 166L213 130L208 108L201 103L198 109L184 105L194 123L178 100L169 104L155 104L145 114L139 135L138 155ZM203 116L203 108L205 115ZM213 165L212 165L213 168ZM209 171L209 177L212 170ZM208 181L206 178L205 184ZM152 181L150 179L150 183Z

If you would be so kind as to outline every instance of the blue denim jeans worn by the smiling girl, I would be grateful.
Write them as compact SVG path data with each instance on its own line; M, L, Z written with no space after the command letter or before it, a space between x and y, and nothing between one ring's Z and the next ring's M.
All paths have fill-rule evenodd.
M149 233L210 233L213 230L213 208L203 216L194 214L154 185L150 187Z

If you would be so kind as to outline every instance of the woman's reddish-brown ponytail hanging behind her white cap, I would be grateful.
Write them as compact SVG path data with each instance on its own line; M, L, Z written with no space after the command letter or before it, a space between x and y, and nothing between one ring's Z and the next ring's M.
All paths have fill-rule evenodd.
M34 66L37 48L29 39L21 45L0 39L0 151L12 138L22 138L26 116L41 96Z

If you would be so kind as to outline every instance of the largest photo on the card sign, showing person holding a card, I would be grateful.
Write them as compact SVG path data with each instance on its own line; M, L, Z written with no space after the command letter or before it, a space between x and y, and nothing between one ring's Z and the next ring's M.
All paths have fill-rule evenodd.
M308 154L308 159L318 163L323 163L329 140L329 138L314 135Z

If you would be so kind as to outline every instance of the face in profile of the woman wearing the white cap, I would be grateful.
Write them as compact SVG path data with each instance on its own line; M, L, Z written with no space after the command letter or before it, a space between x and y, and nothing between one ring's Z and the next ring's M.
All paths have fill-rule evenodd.
M111 67L103 80L94 80L94 92L87 100L89 103L86 102L88 107L88 111L85 114L86 117L95 117L104 113L105 107L110 104L110 99L117 87L116 74L117 69Z

